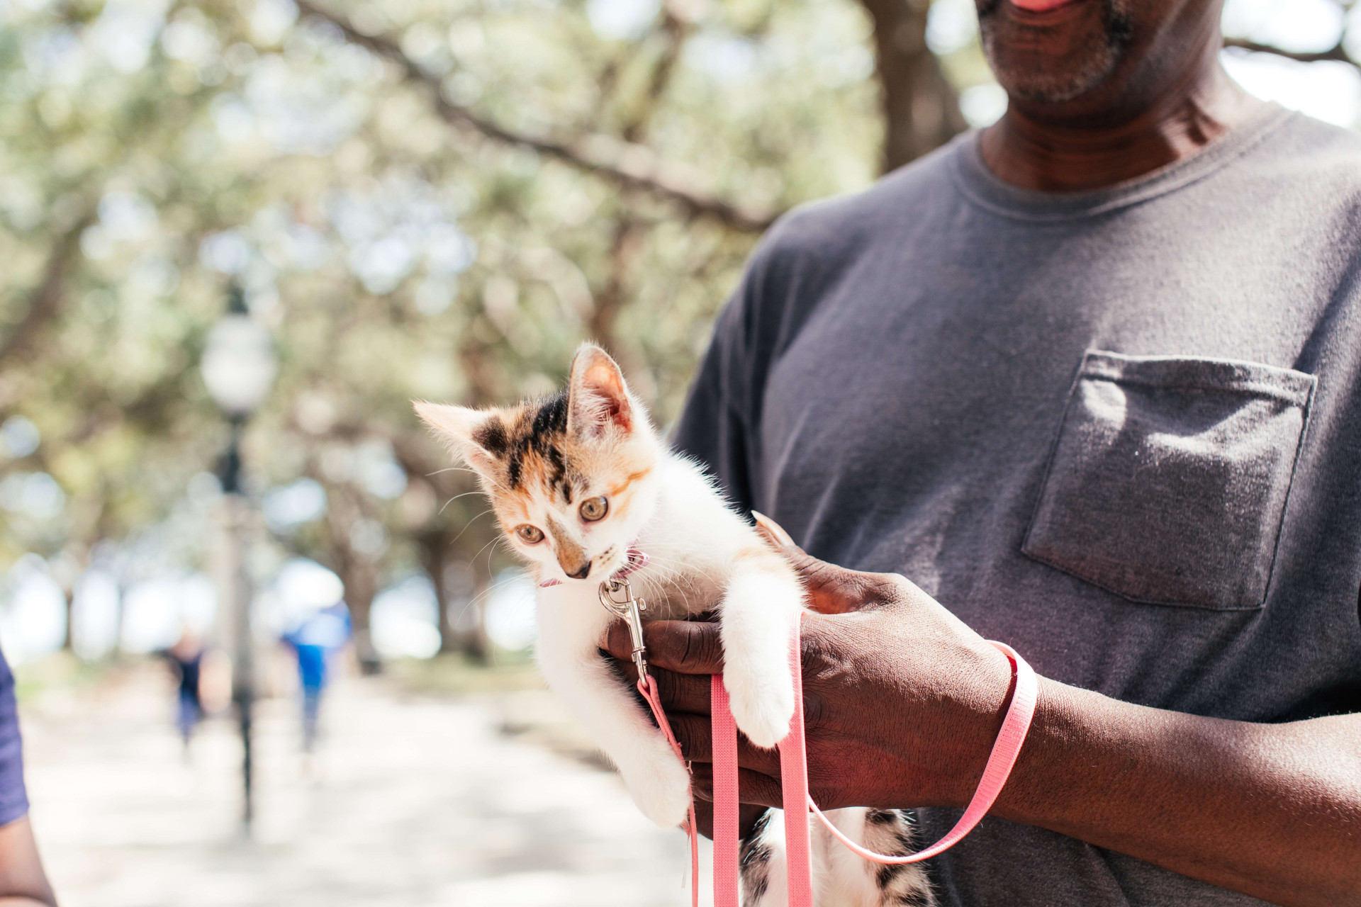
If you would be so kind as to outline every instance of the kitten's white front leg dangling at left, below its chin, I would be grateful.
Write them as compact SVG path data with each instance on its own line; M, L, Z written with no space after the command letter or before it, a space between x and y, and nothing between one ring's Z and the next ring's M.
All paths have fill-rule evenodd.
M690 772L645 706L599 654L611 615L595 601L581 608L563 596L547 604L544 598L540 593L535 646L544 680L619 768L642 815L667 828L679 825L690 808Z

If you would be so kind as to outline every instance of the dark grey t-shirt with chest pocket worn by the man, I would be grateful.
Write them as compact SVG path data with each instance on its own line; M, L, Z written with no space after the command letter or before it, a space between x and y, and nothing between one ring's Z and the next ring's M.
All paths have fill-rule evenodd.
M1358 253L1361 137L1274 105L1078 194L1003 184L966 135L770 231L676 445L1055 680L1361 711ZM958 812L921 815L934 840ZM1260 903L996 819L932 876L968 907Z

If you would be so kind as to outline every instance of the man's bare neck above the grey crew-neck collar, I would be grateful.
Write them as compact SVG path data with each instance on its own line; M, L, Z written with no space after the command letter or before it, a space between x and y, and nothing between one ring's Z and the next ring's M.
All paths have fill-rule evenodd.
M1048 118L1013 103L983 131L980 151L1022 189L1101 189L1195 155L1260 103L1211 58L1134 116Z

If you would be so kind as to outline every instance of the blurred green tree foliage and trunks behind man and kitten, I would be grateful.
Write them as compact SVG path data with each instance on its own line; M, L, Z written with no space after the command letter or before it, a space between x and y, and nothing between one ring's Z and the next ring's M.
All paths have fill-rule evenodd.
M204 559L196 364L237 280L282 355L256 490L325 495L272 544L342 577L366 664L414 568L485 657L495 526L410 400L548 392L593 337L666 424L780 212L965 126L973 29L969 0L0 7L0 567Z

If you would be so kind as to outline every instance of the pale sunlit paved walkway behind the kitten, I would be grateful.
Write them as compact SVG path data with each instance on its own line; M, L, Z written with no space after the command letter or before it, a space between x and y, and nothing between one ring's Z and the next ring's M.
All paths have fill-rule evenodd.
M672 907L685 836L612 774L505 736L498 700L343 680L308 766L291 703L260 718L259 821L238 834L240 747L186 760L151 666L24 707L33 820L63 907Z

